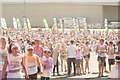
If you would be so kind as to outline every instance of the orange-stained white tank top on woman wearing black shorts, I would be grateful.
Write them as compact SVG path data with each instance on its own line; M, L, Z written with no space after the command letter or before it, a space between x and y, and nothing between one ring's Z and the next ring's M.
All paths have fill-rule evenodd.
M27 69L28 69L28 74L35 74L37 73L37 55L33 54L33 57L26 57L27 59Z

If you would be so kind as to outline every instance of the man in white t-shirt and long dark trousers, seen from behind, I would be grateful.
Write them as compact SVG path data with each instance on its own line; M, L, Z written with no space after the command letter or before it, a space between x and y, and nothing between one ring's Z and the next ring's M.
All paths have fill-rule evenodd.
M76 53L77 53L77 48L74 45L74 40L71 40L71 44L67 48L68 76L70 76L70 73L71 73L72 62L73 62L73 67L74 67L74 76L76 75Z

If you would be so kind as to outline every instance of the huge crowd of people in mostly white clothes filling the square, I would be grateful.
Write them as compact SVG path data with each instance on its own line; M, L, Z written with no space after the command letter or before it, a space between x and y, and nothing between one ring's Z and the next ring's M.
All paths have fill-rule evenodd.
M110 78L120 78L119 47L119 32L114 30L0 29L0 78L37 79L40 75L41 80L49 80L61 72L71 76L72 71L74 76L86 75L93 52L98 55L98 77L104 76L109 65Z

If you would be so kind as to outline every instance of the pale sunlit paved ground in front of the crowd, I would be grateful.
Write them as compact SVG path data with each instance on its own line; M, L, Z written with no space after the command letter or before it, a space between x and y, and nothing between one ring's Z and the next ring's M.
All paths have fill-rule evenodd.
M107 66L108 70L108 66ZM82 75L82 76L70 76L67 77L67 73L61 73L62 76L52 76L51 80L106 80L108 79L109 73L104 73L104 77L98 77L98 63L97 63L97 55L95 53L91 53L90 59L90 74Z

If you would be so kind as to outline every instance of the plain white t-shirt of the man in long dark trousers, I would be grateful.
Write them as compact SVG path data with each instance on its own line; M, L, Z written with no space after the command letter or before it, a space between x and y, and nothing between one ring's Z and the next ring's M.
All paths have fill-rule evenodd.
M77 48L75 45L69 45L67 51L68 51L68 58L76 58Z

